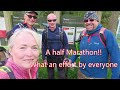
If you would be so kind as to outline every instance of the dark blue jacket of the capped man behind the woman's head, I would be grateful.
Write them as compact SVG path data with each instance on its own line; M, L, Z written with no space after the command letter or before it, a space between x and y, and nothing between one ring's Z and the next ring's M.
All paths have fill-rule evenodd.
M9 38L13 35L14 31L15 31L16 29L18 29L18 28L28 28L28 26L27 26L27 24L24 23L24 22L21 22L21 23L16 24L16 25L13 27L12 30L10 30L9 32L7 32L7 39L9 39ZM36 29L35 27L33 27L33 26L32 26L32 30L34 30L34 31L37 32L37 29Z

